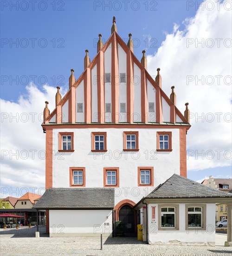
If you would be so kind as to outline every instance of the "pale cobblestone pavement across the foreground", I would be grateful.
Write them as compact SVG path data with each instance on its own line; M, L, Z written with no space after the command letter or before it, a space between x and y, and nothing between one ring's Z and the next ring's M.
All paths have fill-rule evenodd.
M42 234L35 238L36 228L0 230L1 256L211 256L232 254L231 247L224 247L225 235L216 235L217 246L148 245L136 238L52 238ZM27 231L26 231L27 230ZM42 231L42 230L41 230Z

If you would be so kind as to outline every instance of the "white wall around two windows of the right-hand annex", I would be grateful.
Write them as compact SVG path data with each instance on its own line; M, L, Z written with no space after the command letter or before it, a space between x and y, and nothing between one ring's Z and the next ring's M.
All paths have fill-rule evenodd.
M171 203L171 202L170 202ZM176 204L176 203L175 203ZM152 222L152 206L155 206L155 222ZM148 242L215 244L215 203L206 203L206 230L186 230L185 204L179 204L179 230L158 230L158 204L148 205Z

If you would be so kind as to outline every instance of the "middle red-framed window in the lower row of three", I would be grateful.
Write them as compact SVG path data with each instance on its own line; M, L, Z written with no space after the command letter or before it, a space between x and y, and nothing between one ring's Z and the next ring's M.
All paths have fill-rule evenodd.
M119 187L119 168L110 167L103 168L103 186L104 187Z

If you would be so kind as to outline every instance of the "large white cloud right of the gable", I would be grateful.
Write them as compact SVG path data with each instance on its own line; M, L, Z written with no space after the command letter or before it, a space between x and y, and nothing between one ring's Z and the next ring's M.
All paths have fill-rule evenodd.
M162 89L167 95L175 86L177 107L182 113L185 102L189 102L192 127L187 135L187 148L191 150L188 170L231 165L232 58L228 46L232 42L232 16L223 3L217 9L200 8L195 17L183 21L184 31L174 24L173 33L167 34L157 53L147 57L151 75L161 68ZM204 47L196 44L200 41ZM202 78L204 84L197 81Z

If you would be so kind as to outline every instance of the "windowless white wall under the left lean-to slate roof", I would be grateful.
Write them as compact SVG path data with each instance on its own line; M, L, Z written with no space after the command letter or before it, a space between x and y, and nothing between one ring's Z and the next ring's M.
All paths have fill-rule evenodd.
M50 237L112 235L111 210L49 210Z

